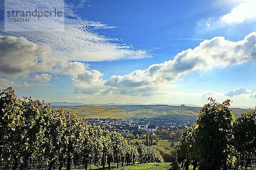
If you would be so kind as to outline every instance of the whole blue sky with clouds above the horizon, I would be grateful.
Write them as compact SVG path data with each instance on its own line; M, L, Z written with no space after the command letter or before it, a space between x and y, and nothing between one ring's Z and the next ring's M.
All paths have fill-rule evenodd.
M212 97L255 107L255 0L64 3L64 31L6 31L1 10L1 89L47 102L204 105Z

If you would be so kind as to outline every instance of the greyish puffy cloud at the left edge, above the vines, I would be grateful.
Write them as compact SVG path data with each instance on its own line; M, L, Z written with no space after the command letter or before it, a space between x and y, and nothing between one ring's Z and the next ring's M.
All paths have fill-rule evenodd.
M86 68L82 62L55 56L49 46L39 46L23 37L0 36L0 75L26 77L35 72L76 75Z

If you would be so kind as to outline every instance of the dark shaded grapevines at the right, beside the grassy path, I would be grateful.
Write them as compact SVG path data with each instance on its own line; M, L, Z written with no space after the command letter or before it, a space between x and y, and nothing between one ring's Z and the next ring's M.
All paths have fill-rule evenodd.
M193 170L255 169L256 111L235 117L230 100L222 104L209 100L180 138L177 162L184 170L190 165Z

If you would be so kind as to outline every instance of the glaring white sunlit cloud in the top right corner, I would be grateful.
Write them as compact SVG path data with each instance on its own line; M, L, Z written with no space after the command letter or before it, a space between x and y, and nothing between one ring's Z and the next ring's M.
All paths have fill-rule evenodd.
M228 25L232 23L242 23L247 19L256 19L256 0L249 0L233 8L229 14L221 17Z

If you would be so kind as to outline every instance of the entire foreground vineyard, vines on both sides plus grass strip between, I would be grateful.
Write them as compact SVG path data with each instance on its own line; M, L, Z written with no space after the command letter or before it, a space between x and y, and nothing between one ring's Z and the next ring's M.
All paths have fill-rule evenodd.
M19 99L9 87L0 91L0 169L255 170L256 110L235 116L229 106L230 100L210 98L173 148L166 140L147 146L88 125L74 112ZM177 162L163 163L166 151L176 148Z

